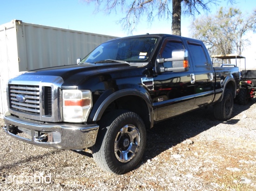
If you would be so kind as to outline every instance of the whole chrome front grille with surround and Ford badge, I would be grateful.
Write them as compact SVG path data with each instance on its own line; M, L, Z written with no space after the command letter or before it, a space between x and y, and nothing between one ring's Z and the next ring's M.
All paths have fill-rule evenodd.
M60 76L20 75L8 82L9 113L35 121L62 121Z

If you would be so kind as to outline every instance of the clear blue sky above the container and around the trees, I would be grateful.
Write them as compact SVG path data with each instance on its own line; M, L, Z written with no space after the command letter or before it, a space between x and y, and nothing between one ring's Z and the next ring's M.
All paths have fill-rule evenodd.
M233 7L239 8L243 13L251 13L256 9L255 0L236 0ZM229 7L227 0L219 0L219 5L211 5L210 13L215 14L220 6ZM13 19L22 20L25 23L47 25L58 28L105 34L116 37L130 36L124 31L118 20L124 14L121 12L106 14L94 13L95 4L88 4L84 0L0 0L0 25L11 22ZM204 12L202 12L204 14ZM197 17L198 15L196 15ZM189 25L192 17L182 16L182 36L191 37ZM146 33L171 34L171 21L155 19L150 25L147 19L142 19L133 35ZM254 64L256 68L256 34L249 33L251 45L243 52L246 57L246 65Z

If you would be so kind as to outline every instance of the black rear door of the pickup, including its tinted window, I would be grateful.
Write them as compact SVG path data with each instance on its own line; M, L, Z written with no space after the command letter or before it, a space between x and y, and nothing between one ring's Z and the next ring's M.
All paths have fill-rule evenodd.
M205 46L193 41L188 41L188 46L195 74L195 105L193 107L195 109L212 102L214 97L214 71Z

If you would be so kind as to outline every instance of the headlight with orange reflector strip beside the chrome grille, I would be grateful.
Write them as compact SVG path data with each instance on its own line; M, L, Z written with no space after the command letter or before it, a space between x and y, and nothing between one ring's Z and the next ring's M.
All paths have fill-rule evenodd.
M89 90L62 90L63 121L85 122L92 108L92 93Z

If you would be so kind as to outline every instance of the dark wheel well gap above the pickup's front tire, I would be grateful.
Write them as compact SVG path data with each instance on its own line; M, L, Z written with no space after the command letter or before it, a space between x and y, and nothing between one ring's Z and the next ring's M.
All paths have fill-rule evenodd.
M139 96L122 96L115 101L111 102L103 115L116 110L116 109L125 109L132 111L140 115L141 119L144 121L146 128L150 128L150 119L149 119L149 110L146 102Z

